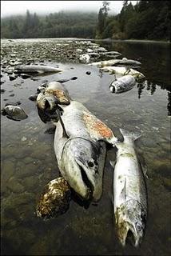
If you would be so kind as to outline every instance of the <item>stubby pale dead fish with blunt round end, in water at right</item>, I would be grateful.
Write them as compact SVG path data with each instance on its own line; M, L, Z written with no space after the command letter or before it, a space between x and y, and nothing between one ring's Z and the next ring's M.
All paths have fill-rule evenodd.
M127 90L131 90L136 84L135 78L132 75L124 75L121 78L115 79L111 82L109 90L115 94L121 94Z

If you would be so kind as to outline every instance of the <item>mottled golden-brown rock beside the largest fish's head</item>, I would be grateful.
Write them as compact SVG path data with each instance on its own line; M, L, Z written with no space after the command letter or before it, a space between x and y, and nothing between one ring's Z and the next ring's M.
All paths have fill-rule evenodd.
M55 178L44 188L38 205L36 214L41 218L54 218L66 213L71 200L71 190L65 178Z

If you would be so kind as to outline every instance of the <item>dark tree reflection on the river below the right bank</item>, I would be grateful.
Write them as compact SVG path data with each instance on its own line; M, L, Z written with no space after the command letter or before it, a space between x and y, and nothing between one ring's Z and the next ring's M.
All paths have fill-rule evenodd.
M141 72L149 81L170 91L170 44L148 42L103 42L108 50L121 52L121 58L141 60Z

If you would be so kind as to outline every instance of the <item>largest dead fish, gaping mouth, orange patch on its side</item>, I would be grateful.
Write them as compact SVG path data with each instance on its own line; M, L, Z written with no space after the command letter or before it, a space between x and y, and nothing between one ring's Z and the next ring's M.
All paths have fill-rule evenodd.
M61 107L63 125L54 121L54 150L59 170L81 198L98 201L102 194L105 142L114 146L117 138L82 103L71 101Z

